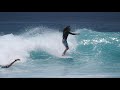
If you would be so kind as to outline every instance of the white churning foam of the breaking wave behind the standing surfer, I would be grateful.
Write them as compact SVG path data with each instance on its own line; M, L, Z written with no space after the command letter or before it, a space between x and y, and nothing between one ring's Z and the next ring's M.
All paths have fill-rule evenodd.
M70 52L76 47L75 36L69 36L68 43ZM54 56L61 55L65 49L62 44L62 33L45 27L37 27L21 35L0 36L0 65L8 64L16 58L24 62L29 58L30 51L38 49Z

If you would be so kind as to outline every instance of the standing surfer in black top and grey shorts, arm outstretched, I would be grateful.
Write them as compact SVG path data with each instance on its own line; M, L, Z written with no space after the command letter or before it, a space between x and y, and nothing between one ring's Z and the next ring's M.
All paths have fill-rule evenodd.
M67 43L67 37L68 37L68 35L69 34L71 34L71 35L79 35L80 34L80 33L72 33L72 32L70 32L70 30L71 30L70 26L65 27L64 30L63 30L62 43L65 46L65 50L64 50L62 56L64 56L66 54L67 50L69 49L69 46L68 46L68 43Z

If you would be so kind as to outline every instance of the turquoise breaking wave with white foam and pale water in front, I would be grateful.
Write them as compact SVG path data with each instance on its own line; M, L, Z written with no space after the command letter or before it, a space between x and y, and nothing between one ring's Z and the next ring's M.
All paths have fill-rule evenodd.
M56 29L40 26L17 35L1 35L0 65L16 58L21 61L7 70L0 69L0 77L119 76L120 33L87 28L75 32L80 35L68 37L67 55L72 58L60 58L65 47L62 32Z

